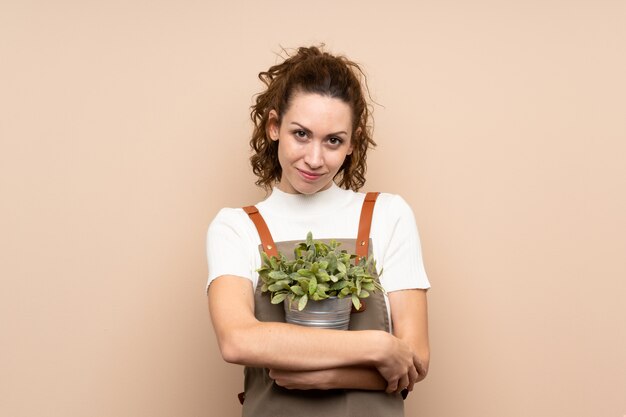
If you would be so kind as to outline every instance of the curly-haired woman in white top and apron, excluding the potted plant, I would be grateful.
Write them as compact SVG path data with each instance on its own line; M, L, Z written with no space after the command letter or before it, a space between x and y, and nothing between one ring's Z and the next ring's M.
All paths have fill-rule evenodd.
M266 90L252 107L251 162L257 185L272 192L247 211L258 210L279 249L312 231L352 239L352 252L365 207L356 190L375 145L359 66L299 48L259 78ZM246 366L244 416L402 416L400 393L426 376L429 283L413 213L391 194L367 204L371 244L361 244L384 269L387 294L353 313L350 331L284 323L257 286L258 214L223 209L211 223L210 313L224 360Z

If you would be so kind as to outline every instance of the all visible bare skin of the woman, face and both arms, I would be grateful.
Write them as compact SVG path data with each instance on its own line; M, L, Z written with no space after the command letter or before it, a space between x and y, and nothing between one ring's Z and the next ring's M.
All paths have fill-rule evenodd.
M332 185L352 153L351 114L339 99L308 93L294 94L282 120L270 112L267 133L279 141L283 169L279 189L313 194ZM258 321L248 279L221 276L209 287L209 310L224 360L269 368L270 377L289 389L412 390L428 372L426 291L395 291L389 302L393 335L336 331Z

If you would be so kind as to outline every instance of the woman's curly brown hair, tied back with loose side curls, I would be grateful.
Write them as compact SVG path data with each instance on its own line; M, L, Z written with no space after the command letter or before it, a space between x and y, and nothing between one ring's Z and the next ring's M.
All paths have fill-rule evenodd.
M257 175L256 184L270 189L280 181L282 168L278 162L278 142L267 136L269 113L278 113L280 124L289 109L296 92L316 93L338 98L352 109L353 151L337 172L339 186L358 190L365 184L367 149L376 146L372 139L372 127L368 124L371 110L365 99L367 91L365 74L358 64L345 56L334 56L323 51L323 45L298 48L280 64L259 73L266 85L265 91L256 96L251 107L250 118L254 123L250 147L254 154L250 158L252 171Z

